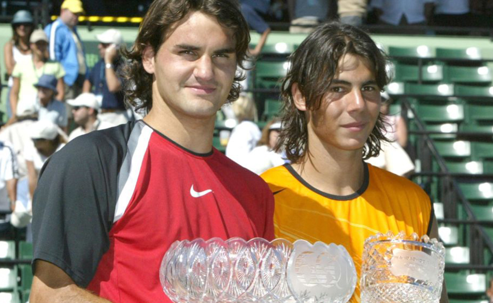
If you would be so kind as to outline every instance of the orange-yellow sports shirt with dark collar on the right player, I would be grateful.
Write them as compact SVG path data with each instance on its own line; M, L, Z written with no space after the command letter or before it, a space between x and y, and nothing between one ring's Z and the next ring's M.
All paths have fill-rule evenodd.
M261 175L276 201L276 237L346 247L358 274L351 303L361 302L359 279L365 239L388 230L429 234L433 217L430 199L418 185L370 164L364 165L363 186L347 196L315 189L289 164Z

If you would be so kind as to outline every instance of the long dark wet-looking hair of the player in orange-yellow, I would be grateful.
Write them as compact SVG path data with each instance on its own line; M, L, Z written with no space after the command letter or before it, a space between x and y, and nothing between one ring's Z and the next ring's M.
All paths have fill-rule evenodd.
M362 30L339 22L318 26L290 55L290 67L282 82L282 131L276 150L284 150L292 163L303 160L308 147L308 120L305 111L294 104L291 88L298 84L305 98L307 110L320 108L321 100L336 75L339 60L352 54L367 60L375 73L377 85L383 89L389 82L386 72L387 56ZM380 152L380 141L385 137L385 125L381 114L366 140L363 159Z

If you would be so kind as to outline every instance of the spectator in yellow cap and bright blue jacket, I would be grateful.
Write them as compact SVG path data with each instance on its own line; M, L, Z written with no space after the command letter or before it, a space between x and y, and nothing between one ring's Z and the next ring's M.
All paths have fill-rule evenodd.
M49 38L50 59L59 61L66 72L64 80L67 99L73 99L82 92L87 74L84 47L76 28L79 16L83 13L82 1L65 0L60 17L44 28Z

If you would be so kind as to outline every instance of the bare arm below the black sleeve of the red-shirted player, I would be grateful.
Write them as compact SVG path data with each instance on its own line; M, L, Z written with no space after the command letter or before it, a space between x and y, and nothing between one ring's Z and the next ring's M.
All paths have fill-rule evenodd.
M75 285L58 266L36 260L31 303L110 303Z

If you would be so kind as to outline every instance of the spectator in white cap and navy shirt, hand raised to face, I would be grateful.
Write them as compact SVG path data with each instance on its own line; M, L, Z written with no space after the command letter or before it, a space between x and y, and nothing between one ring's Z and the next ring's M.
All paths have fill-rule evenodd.
M99 118L111 124L118 125L127 123L129 115L125 110L123 93L121 91L122 81L116 75L120 66L121 57L119 47L123 43L120 31L109 29L96 35L99 41L98 49L101 60L92 68L84 81L82 91L92 92L96 95L101 109Z

